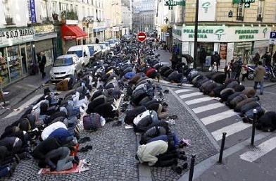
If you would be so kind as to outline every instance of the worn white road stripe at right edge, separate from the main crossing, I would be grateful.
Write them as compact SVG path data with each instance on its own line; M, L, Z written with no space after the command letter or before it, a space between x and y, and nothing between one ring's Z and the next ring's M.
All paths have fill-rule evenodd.
M247 151L244 154L240 155L239 158L242 158L244 161L253 162L256 161L261 156L268 154L276 148L276 137L272 137L267 141L259 144L256 148L253 148L251 151Z

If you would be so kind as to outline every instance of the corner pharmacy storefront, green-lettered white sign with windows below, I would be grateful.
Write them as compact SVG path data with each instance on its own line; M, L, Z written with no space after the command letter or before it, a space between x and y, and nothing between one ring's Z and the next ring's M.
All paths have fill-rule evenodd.
M221 57L220 68L237 58L248 64L254 53L263 55L268 51L270 31L270 27L199 26L198 49L202 46L206 50L208 61L217 51ZM185 44L182 54L185 51L194 56L194 26L182 27L182 44Z

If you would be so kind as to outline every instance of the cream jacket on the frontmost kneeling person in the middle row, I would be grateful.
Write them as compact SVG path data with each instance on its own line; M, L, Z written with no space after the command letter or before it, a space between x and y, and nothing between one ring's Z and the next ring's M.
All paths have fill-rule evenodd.
M137 157L140 163L147 162L149 166L153 166L158 158L156 156L164 154L168 150L168 143L164 141L155 141L148 144L138 146Z

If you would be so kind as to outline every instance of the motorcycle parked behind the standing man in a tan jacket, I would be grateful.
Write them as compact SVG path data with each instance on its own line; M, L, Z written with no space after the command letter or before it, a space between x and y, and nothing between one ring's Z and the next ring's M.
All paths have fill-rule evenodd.
M254 80L256 65L247 65L247 79ZM271 67L265 66L265 80L276 82L276 65Z

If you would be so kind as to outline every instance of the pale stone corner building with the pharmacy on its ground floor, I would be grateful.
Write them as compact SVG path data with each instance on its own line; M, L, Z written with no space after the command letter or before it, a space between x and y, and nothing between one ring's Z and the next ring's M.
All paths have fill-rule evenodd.
M203 47L208 60L214 51L218 51L222 58L221 68L232 59L242 58L244 64L248 64L253 54L275 52L275 46L269 44L269 39L270 31L276 25L276 1L256 0L250 5L246 7L238 0L199 0L199 43L196 51ZM172 44L179 46L182 54L192 56L195 51L195 13L195 1L186 0L185 6L173 6L170 17Z

